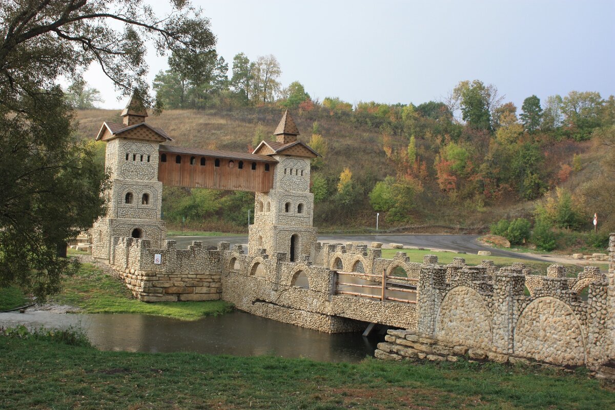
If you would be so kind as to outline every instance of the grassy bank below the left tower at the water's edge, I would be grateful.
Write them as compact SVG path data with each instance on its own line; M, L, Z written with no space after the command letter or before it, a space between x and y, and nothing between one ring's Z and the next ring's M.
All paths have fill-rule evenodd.
M85 313L143 313L182 320L196 320L232 309L224 301L141 302L133 298L124 283L88 263L82 264L77 274L63 278L62 292L50 301L81 307Z

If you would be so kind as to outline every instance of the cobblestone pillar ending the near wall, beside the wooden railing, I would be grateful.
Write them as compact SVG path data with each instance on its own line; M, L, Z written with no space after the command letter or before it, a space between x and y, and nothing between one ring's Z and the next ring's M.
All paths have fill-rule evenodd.
M434 337L435 317L442 303L445 281L445 267L432 264L421 268L416 303L416 330L421 336Z

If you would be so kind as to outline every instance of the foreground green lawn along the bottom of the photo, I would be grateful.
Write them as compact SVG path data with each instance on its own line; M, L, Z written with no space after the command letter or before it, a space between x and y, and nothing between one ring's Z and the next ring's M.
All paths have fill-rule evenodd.
M0 336L7 409L608 409L584 371L488 363L319 363L272 356L100 352Z

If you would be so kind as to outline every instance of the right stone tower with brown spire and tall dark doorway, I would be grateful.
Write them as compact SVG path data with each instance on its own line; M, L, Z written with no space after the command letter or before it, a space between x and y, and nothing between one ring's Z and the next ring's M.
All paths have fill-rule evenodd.
M248 251L258 254L286 253L298 261L310 255L316 241L312 226L314 194L309 192L310 161L319 154L297 140L299 130L288 113L276 128L276 141L261 141L253 154L277 160L274 183L269 192L256 192L254 224L250 225Z

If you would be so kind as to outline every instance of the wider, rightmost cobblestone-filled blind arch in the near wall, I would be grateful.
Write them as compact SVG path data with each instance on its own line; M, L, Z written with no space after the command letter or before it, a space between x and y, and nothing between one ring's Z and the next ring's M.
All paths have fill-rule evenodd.
M583 365L585 337L579 318L559 299L538 298L517 320L513 350L515 355L556 365Z

